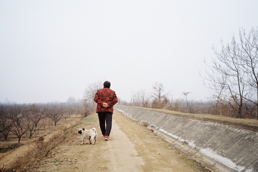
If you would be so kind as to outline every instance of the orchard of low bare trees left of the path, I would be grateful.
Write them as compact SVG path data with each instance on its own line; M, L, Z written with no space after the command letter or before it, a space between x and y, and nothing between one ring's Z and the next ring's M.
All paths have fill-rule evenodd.
M7 140L10 133L18 137L20 143L23 135L32 137L46 122L56 126L60 120L65 120L73 114L85 113L81 103L51 103L51 104L0 104L0 134Z

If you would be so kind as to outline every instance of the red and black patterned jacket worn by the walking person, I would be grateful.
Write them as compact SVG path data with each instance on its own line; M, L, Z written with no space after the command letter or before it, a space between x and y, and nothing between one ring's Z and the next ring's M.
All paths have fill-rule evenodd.
M117 103L117 96L115 91L109 88L99 89L95 94L94 101L98 103L96 113L111 112L113 113L114 105ZM103 107L103 103L107 103L108 107Z

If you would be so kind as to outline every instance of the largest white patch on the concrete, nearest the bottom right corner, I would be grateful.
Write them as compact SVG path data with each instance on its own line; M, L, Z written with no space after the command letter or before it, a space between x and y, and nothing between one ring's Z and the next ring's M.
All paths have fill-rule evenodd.
M220 162L221 164L224 164L225 166L232 168L236 171L242 171L245 169L245 167L243 166L237 166L233 161L231 161L228 158L222 157L220 155L218 155L216 152L214 152L213 150L209 149L209 148L205 148L205 149L200 149L199 150L201 153L203 153L204 155L215 159L216 161Z

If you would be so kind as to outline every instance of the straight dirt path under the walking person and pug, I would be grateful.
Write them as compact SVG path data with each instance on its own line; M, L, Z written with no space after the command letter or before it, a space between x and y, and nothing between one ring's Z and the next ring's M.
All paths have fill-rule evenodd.
M79 128L95 127L94 145L80 144ZM114 110L110 139L104 141L93 114L76 125L66 140L28 171L209 171L141 124Z

